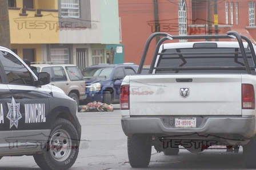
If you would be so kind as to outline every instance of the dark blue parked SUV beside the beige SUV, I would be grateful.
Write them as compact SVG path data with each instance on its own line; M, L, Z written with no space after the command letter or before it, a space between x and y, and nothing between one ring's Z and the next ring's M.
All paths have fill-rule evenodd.
M123 64L96 64L83 69L82 74L86 80L87 102L97 101L119 103L120 87L126 75L136 74L138 65Z

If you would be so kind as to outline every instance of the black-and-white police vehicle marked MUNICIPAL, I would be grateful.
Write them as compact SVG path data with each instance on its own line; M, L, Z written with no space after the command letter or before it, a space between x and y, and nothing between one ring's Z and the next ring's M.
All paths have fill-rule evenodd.
M0 158L34 156L42 169L69 169L77 159L77 103L38 78L14 52L0 47Z

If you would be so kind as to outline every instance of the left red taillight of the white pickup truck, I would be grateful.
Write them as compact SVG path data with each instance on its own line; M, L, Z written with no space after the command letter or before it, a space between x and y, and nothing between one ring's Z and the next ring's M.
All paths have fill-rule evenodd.
M129 85L122 85L121 86L121 92L120 92L120 109L130 109L129 105Z

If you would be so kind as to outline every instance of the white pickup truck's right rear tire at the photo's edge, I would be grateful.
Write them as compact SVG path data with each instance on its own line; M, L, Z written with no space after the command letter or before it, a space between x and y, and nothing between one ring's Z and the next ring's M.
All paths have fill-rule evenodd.
M243 146L243 164L246 168L256 168L256 136Z

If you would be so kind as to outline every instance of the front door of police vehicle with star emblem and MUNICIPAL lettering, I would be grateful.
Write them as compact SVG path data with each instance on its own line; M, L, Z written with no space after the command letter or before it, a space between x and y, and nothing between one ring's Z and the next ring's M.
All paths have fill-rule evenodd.
M0 125L11 132L5 140L12 152L41 150L50 132L46 125L49 94L34 86L35 77L13 52L0 49L0 62L11 94L2 102L4 118Z

